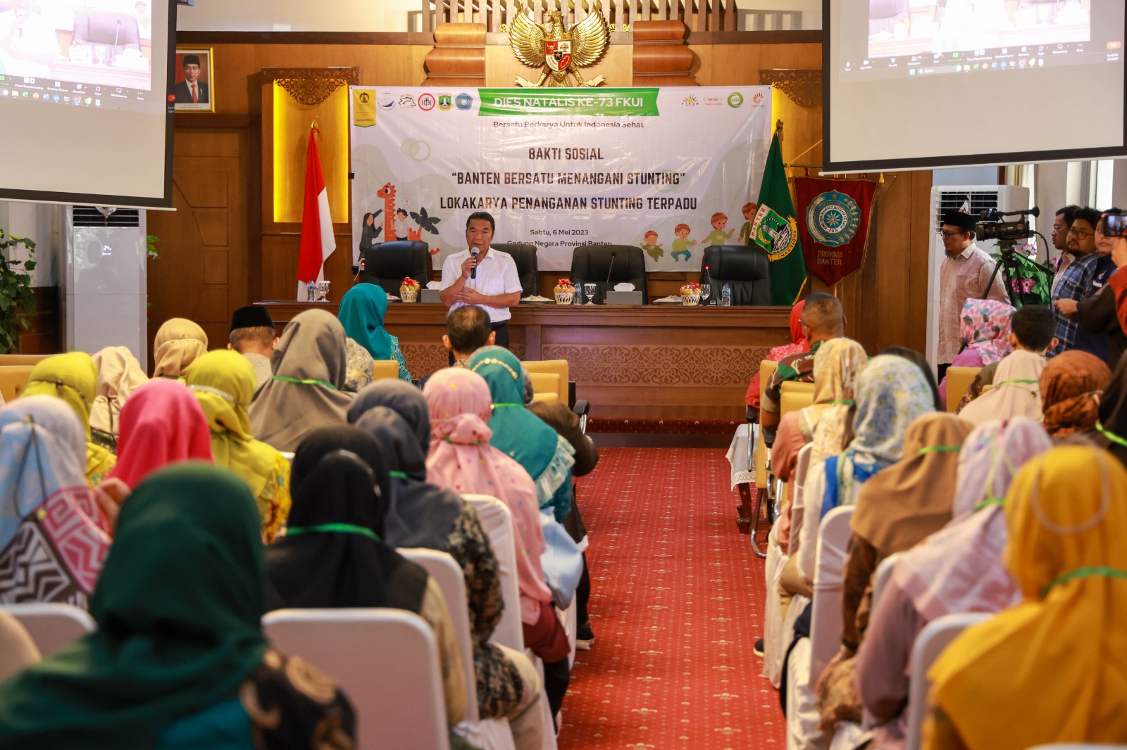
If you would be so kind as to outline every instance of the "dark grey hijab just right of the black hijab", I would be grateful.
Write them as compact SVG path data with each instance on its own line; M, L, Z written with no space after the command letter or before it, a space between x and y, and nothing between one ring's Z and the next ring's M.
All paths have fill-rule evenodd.
M423 398L418 389L407 387ZM426 481L426 452L407 420L392 409L374 407L364 412L356 427L375 440L391 475L388 543L445 551L464 501L456 492Z

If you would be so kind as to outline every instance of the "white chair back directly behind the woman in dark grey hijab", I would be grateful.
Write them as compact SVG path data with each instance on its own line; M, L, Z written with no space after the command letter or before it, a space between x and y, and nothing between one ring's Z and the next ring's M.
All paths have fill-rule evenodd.
M442 589L450 622L462 650L462 670L465 675L465 718L458 733L481 750L516 750L507 718L485 718L478 715L477 675L473 671L473 639L470 635L469 604L462 569L449 553L424 548L397 550L407 560L421 565Z

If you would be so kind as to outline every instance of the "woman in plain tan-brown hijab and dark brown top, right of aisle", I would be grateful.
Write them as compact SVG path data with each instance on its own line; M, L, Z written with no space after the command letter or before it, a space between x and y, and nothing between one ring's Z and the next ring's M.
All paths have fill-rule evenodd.
M970 429L947 412L920 417L904 436L904 457L861 486L845 553L841 650L818 681L827 732L838 721L861 721L853 655L869 627L872 574L885 557L912 548L951 520L959 450Z

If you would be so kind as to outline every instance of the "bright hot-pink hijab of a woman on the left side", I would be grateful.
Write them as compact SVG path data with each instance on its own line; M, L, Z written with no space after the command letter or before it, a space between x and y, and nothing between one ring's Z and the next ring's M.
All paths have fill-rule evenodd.
M136 488L152 472L190 459L213 463L211 431L199 402L178 381L145 383L122 407L117 465L109 476Z

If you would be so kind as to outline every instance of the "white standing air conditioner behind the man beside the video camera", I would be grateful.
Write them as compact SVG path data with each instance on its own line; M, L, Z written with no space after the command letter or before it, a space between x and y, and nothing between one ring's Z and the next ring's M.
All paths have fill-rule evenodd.
M943 236L940 227L943 223L943 214L948 211L958 211L964 204L969 202L970 213L983 214L991 208L1001 212L1024 211L1029 208L1029 188L1012 185L942 185L931 189L931 217L933 222L933 238L931 242L931 256L928 284L928 361L932 366L937 361L939 349L939 270L943 262L946 252L943 251ZM977 240L978 247L985 252L996 252L997 242Z

